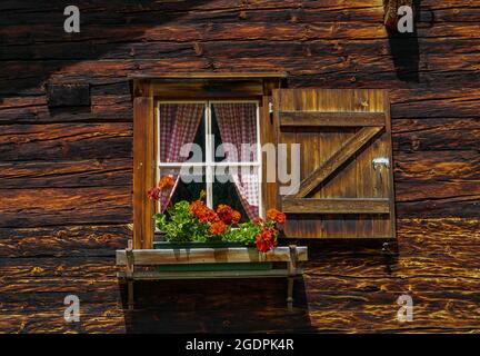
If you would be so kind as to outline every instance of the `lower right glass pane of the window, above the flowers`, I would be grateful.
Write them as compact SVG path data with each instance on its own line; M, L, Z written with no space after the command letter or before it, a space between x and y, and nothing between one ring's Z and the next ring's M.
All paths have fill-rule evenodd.
M240 211L240 221L259 215L259 177L257 167L217 167L213 181L213 207L227 204Z

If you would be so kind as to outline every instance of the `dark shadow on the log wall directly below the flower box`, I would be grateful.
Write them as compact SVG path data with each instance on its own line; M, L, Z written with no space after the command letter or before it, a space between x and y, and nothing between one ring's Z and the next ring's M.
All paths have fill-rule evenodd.
M134 310L121 290L127 333L313 332L302 279L291 312L286 279L138 281Z

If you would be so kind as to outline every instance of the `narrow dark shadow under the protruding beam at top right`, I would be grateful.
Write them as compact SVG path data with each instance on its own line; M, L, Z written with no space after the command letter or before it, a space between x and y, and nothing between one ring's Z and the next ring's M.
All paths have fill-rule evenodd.
M389 34L390 52L393 58L393 66L397 77L407 82L419 82L419 40L418 21L420 20L420 2L413 0L413 33L400 33L397 29L387 29Z

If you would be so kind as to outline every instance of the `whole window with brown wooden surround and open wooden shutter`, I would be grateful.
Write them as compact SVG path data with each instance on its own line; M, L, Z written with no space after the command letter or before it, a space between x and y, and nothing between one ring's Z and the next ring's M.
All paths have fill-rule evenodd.
M289 238L394 238L388 92L284 89L284 77L192 72L133 78L133 248L153 246L151 217L166 201L156 207L146 192L168 174L177 182L167 204L192 200L204 189L210 207L227 202L244 218L283 210ZM260 142L276 148L274 155L266 150L263 162ZM180 155L184 144L187 155ZM189 144L202 154L193 157ZM257 149L246 155L242 144ZM298 179L284 171L293 156L283 148L293 144L300 146ZM267 179L270 174L273 181ZM299 190L284 195L280 188L289 185Z

